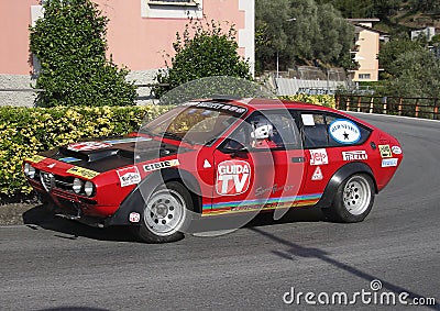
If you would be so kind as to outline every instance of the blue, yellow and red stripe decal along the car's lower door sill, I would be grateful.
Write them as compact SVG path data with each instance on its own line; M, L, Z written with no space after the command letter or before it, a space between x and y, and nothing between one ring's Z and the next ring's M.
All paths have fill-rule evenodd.
M202 216L315 206L322 193L204 204Z

